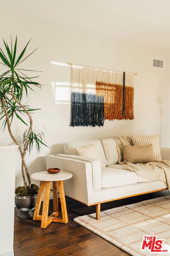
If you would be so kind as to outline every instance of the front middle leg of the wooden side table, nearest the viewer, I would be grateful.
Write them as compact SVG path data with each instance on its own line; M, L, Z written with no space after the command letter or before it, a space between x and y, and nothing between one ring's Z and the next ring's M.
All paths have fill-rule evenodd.
M41 228L46 228L52 222L52 218L48 219L49 200L50 200L50 185L51 185L50 181L45 181L44 201L43 201L43 207L42 207Z

